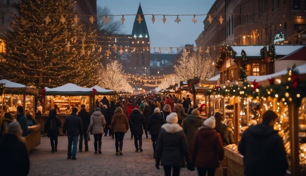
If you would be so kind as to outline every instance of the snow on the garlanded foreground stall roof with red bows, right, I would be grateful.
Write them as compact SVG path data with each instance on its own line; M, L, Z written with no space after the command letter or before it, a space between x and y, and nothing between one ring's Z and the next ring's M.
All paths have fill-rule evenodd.
M299 72L299 74L305 74L306 73L306 64L297 66L296 70ZM287 74L288 74L288 71L287 71L287 69L285 69L283 71L279 71L277 73L273 73L273 74L270 74L270 75L248 76L247 80L248 81L254 81L256 79L256 81L259 82L259 81L265 81L265 80L270 79L270 78L275 78L277 76L287 75Z

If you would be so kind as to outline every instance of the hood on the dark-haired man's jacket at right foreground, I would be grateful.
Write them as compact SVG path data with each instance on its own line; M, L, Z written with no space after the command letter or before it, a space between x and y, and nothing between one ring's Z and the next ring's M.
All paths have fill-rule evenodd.
M262 123L260 125L251 126L248 128L252 136L256 138L262 138L270 136L271 134L277 133L272 127L268 124Z

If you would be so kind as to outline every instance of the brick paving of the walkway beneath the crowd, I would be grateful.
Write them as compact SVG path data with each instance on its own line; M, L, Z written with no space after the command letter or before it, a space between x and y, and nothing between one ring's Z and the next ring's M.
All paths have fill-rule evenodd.
M143 152L135 152L134 139L130 139L130 131L125 134L123 140L123 156L115 155L115 141L109 136L102 137L102 154L94 154L94 138L90 136L88 141L89 151L79 152L77 160L67 160L66 136L58 137L58 152L51 153L50 140L41 137L41 144L31 151L29 175L164 175L163 168L155 168L152 143L143 135ZM149 135L150 137L150 135ZM84 145L84 144L83 144ZM181 169L181 175L197 175L197 171Z

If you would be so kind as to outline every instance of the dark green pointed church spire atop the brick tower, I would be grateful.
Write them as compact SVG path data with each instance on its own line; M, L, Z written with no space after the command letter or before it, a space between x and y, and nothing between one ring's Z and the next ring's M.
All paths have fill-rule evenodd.
M141 23L137 21L138 14L141 14L141 18L143 19ZM141 5L139 2L139 7L137 10L137 15L135 17L134 25L133 25L133 30L132 30L132 37L133 38L150 38L149 37L149 32L146 24L146 20L144 19L144 13L142 12Z

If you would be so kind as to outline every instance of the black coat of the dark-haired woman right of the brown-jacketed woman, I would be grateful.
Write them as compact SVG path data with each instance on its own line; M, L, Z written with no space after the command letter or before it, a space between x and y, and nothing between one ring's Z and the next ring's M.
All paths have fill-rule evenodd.
M147 130L146 120L144 115L138 109L134 109L130 114L129 126L133 135L144 134L144 129Z

